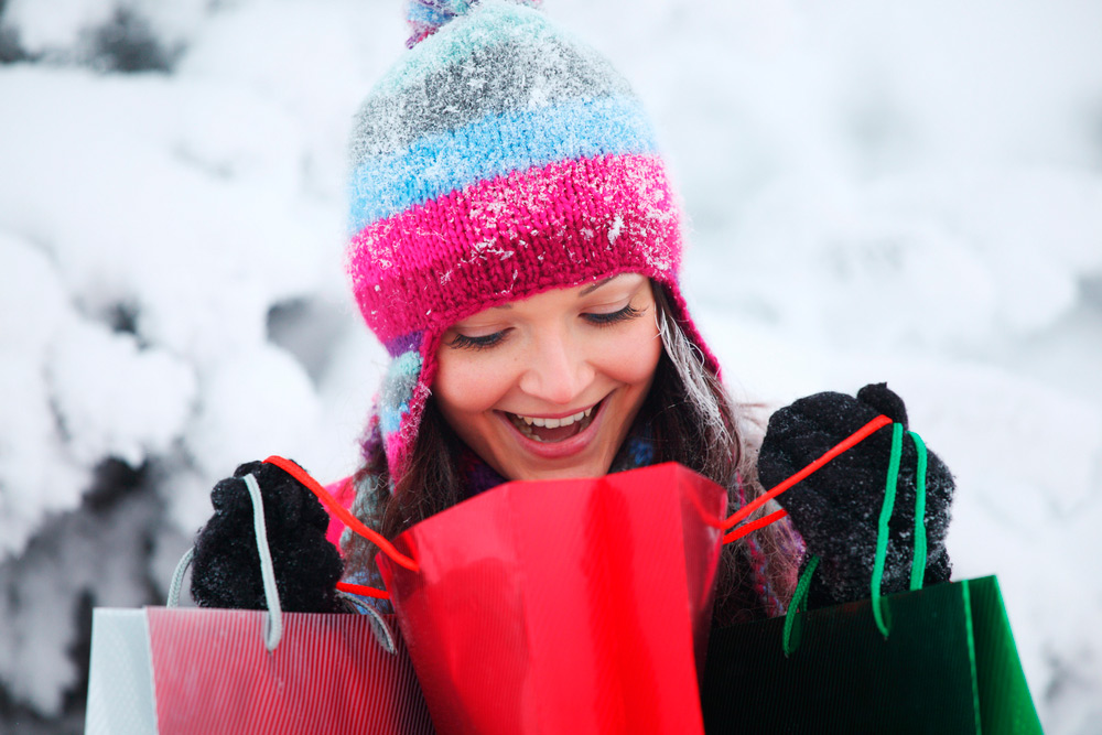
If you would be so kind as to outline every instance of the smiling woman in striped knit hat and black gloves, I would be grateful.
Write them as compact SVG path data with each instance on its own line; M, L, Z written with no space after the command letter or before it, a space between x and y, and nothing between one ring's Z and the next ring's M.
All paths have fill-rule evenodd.
M883 386L863 400L820 394L778 412L755 461L680 292L681 213L647 117L604 58L527 4L413 3L411 51L358 116L348 270L393 360L354 511L392 538L504 480L667 461L727 487L736 508L760 494L759 472L771 485L880 412L906 421ZM813 602L867 590L883 434L785 496L802 542L823 556ZM914 457L904 464L893 528L905 530ZM245 465L238 477L247 472L284 509L269 526L284 606L339 608L342 561L320 506L274 467ZM936 458L930 477L928 569L948 579L951 477ZM201 604L262 606L238 542L251 533L241 486L215 488L196 548ZM898 581L892 562L909 569L896 541L886 591ZM375 581L374 552L346 536L344 576ZM781 613L801 553L787 523L728 547L716 621Z

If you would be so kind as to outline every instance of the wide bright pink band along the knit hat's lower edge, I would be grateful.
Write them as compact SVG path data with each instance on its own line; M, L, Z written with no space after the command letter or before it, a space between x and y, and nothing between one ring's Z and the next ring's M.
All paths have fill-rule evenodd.
M657 155L555 161L366 226L348 271L364 318L389 345L613 271L668 280L680 267L676 213Z

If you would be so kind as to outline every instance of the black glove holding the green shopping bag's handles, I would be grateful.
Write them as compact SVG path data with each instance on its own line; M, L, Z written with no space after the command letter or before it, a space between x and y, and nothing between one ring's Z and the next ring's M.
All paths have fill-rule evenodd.
M777 411L769 420L758 456L761 484L766 488L776 486L882 413L907 426L903 400L883 382L865 386L857 398L817 393ZM869 596L890 452L892 426L884 426L777 497L803 537L808 559L820 558L808 594L810 607ZM888 522L883 594L909 588L916 467L915 444L904 435L898 489ZM928 453L926 584L949 580L951 568L944 541L952 496L949 468L932 452Z

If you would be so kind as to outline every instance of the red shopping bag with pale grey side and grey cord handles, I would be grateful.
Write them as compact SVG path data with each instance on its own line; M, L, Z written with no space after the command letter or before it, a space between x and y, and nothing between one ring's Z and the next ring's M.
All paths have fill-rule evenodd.
M96 609L88 735L432 733L393 617L283 613L252 475L253 525L268 610Z

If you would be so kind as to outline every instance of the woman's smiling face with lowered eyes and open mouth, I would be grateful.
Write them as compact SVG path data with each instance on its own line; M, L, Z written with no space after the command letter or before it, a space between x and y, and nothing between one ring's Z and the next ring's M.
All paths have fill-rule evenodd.
M436 404L507 479L604 475L655 377L655 309L625 273L479 312L444 333Z

